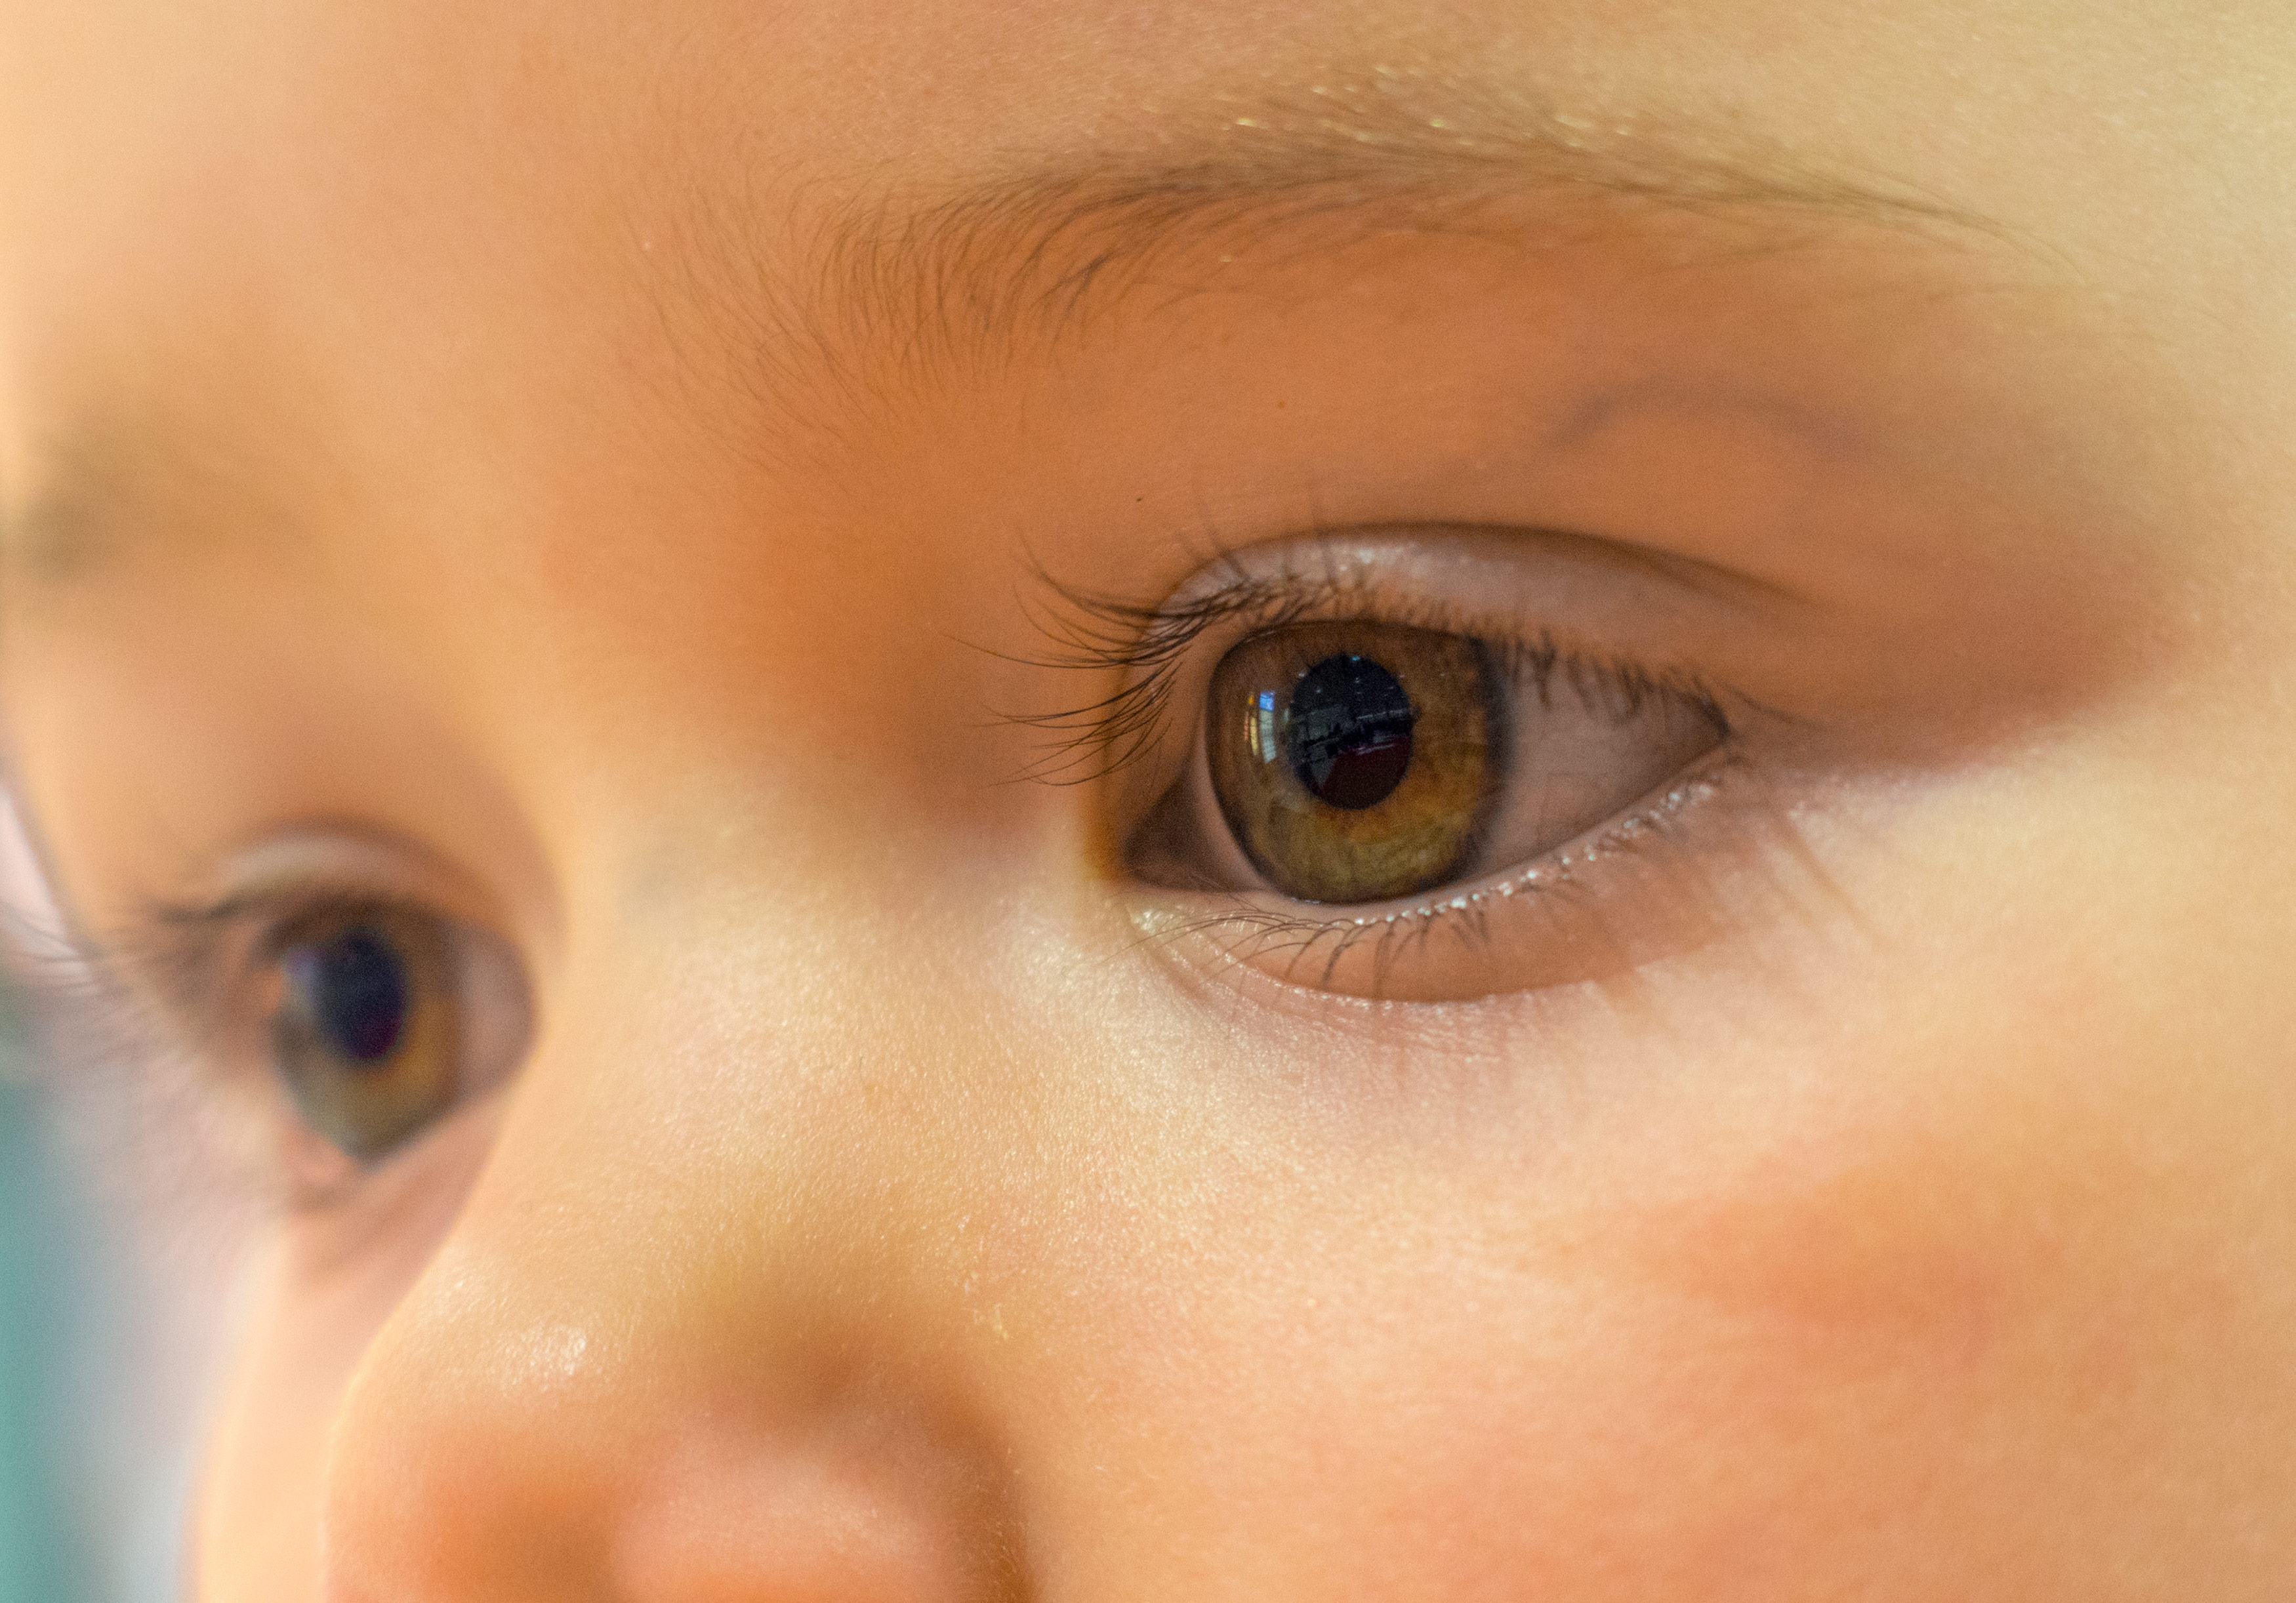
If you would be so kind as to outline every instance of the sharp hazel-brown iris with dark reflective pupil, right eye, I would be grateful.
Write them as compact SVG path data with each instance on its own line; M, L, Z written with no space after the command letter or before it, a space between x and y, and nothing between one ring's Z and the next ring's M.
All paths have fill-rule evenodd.
M1212 673L1212 792L1267 882L1378 903L1456 877L1504 776L1481 641L1306 622L1238 643Z

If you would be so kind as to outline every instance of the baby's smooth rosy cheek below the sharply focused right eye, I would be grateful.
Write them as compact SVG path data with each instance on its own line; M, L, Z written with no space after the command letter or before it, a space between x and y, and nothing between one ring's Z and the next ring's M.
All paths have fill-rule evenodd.
M1141 1539L1224 1555L1203 1596L1238 1555L1265 1596L1699 1603L2057 1598L2131 1546L2190 1555L2216 1493L2133 1507L2163 1463L2250 1507L2285 1484L2248 1451L2271 1431L2232 1428L2287 1399L2206 1130L2190 1167L2131 1141L2167 1118L2142 1052L2002 1029L1947 1084L1933 1047L1141 1245L1164 1263L1109 1277L1100 1392L1139 1468L1111 1484L1102 1440L1100 1484L1157 1511Z

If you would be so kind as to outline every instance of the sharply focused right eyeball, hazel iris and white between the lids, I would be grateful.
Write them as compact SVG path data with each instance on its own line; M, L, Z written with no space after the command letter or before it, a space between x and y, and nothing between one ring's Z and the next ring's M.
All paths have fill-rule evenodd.
M1348 907L1527 866L1724 735L1708 705L1626 673L1368 618L1238 641L1201 728L1134 870Z

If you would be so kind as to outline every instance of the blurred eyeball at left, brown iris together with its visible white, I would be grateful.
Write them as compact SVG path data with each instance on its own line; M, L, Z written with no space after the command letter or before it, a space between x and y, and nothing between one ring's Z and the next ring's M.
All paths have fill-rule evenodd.
M418 907L331 907L266 942L271 1070L342 1155L406 1146L523 1052L517 965Z

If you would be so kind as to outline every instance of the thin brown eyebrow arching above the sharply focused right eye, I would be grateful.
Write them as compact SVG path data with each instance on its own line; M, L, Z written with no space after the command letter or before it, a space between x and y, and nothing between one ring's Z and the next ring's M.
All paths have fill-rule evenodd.
M2048 257L1908 181L1727 131L1596 126L1458 85L1444 110L1430 106L1378 73L1238 99L1199 133L1139 149L1022 154L827 204L815 202L827 186L799 188L771 218L705 218L684 255L696 287L716 278L712 310L737 310L765 390L824 372L859 388L928 384L951 363L1058 338L1203 248L1279 241L1304 255L1375 234L1525 243L1688 220L1717 257L1860 230L1894 248ZM728 262L771 262L771 278L728 282L716 271Z

